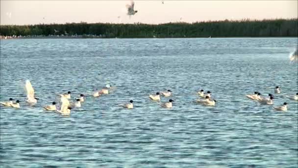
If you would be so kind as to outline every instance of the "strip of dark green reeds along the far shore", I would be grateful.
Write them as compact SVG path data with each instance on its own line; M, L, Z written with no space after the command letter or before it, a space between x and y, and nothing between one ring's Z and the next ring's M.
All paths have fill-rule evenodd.
M1 25L0 35L97 35L103 38L152 37L294 37L298 36L298 19L208 21L197 23L110 24L66 23L40 25Z

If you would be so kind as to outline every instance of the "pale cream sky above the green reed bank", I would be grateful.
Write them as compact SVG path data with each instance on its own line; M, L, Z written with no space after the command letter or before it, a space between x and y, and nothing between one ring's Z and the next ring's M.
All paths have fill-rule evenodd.
M1 25L40 23L147 23L298 18L298 0L0 0ZM118 18L120 16L120 18ZM180 18L182 18L180 20Z

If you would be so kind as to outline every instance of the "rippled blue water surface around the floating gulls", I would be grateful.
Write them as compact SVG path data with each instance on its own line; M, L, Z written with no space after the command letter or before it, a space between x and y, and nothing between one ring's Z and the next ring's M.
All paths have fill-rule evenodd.
M24 39L0 41L0 101L24 100L29 79L39 102L0 108L0 167L298 167L297 38ZM71 116L43 111L105 84ZM245 97L275 94L274 106ZM172 109L148 95L173 91ZM210 90L215 107L193 101ZM118 105L134 100L134 109ZM162 102L169 98L162 97ZM73 100L72 100L73 101Z

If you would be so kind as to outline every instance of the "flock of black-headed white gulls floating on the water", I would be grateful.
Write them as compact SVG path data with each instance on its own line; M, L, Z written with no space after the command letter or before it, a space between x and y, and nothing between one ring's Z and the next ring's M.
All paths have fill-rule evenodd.
M112 87L110 84L106 84L102 89L96 90L93 93L90 94L90 96L93 97L99 97L102 94L109 94L112 90L114 90L115 87ZM29 80L26 80L25 86L24 86L24 91L26 94L26 99L25 102L28 104L36 104L39 100L39 98L35 97L34 94L34 89L32 87L32 84L30 83ZM281 93L280 87L276 86L274 88L274 93L279 94ZM203 89L200 89L198 94L198 99L196 99L195 102L198 104L201 104L203 106L215 106L216 100L212 98L211 96L211 91L207 91L204 93ZM248 94L246 95L247 98L259 102L261 105L273 105L273 99L274 96L273 94L268 94L268 98L262 97L262 94L258 91L255 91L253 94ZM43 109L46 111L55 111L58 113L61 113L62 115L70 115L72 108L80 108L82 106L82 102L84 102L84 94L80 94L79 97L75 98L75 102L70 102L71 99L71 91L68 91L67 93L64 94L59 94L60 96L60 107L56 106L56 102L52 102L51 105L44 106ZM156 94L150 94L149 99L152 101L160 101L161 97L170 97L172 96L172 91L169 89L167 91L161 91L161 92L156 92ZM298 93L296 95L292 96L286 96L286 98L294 101L298 101ZM168 102L158 102L158 105L160 105L163 108L172 108L173 107L173 99L169 99ZM10 107L10 108L20 108L20 100L16 100L15 103L13 103L13 99L9 98L7 102L0 102L0 104L4 107ZM282 106L278 107L273 107L274 110L276 111L287 111L287 103L284 102ZM127 104L120 104L119 106L126 108L126 109L133 109L133 100L130 100L129 103Z

